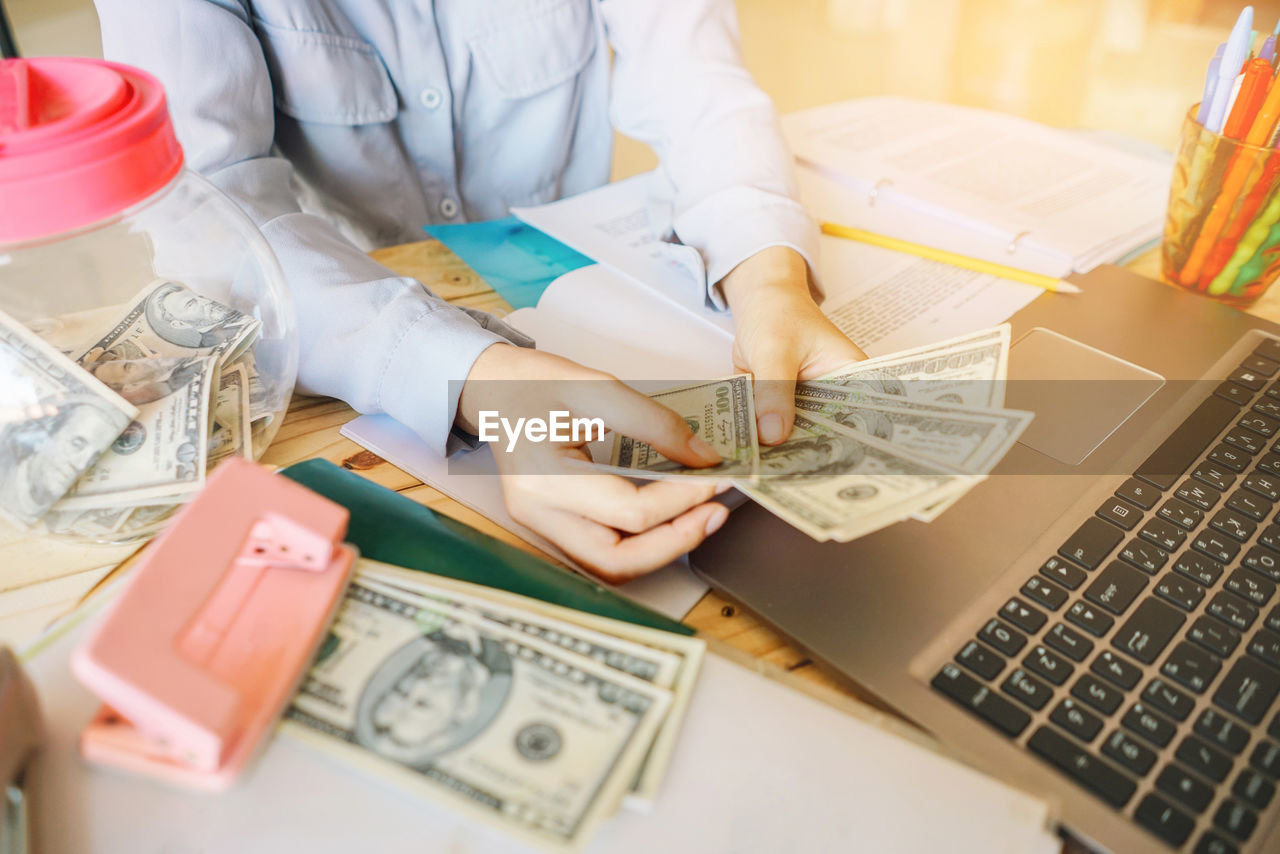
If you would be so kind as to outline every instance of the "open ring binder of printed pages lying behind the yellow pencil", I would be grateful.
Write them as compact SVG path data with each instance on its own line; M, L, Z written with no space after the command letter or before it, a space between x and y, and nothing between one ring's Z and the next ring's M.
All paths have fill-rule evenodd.
M783 119L819 219L1036 273L1160 236L1171 163L1028 119L867 97Z

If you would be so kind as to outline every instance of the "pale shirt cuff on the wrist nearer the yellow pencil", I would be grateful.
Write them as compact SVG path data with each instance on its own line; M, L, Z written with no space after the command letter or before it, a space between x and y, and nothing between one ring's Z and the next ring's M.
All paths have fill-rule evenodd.
M786 246L817 273L818 225L794 198L755 187L723 189L675 222L676 236L696 248L707 265L707 298L719 310L728 307L719 283L730 271L762 250Z

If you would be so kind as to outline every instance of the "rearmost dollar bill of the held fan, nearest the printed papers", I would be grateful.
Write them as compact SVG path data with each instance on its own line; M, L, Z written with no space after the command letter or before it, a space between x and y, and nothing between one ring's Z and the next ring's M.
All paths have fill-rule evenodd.
M851 362L819 382L934 403L1000 408L1009 378L1009 324Z

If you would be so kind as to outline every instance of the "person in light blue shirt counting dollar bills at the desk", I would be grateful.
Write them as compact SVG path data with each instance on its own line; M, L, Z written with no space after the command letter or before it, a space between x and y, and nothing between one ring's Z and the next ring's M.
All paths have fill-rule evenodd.
M742 67L732 0L96 5L105 55L160 78L188 164L279 256L303 391L387 412L444 453L476 434L480 411L570 410L677 462L718 462L675 412L366 256L428 223L605 183L613 129L659 156L653 225L698 250L705 300L732 310L762 442L788 435L797 378L863 356L814 302L817 228ZM727 517L712 478L572 474L585 452L552 443L495 456L512 517L609 581L666 565Z

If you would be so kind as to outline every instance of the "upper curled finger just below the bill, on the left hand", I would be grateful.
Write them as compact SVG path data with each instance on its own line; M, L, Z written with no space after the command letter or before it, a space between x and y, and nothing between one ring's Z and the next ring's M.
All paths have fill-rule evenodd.
M516 475L504 488L520 501L576 513L630 534L646 531L724 492L712 478L659 480L636 485L603 474Z

